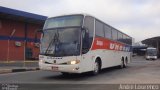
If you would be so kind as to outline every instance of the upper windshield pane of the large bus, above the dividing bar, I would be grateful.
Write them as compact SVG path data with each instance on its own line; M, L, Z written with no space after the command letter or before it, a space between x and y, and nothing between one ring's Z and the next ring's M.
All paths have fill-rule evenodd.
M83 15L69 15L69 16L53 17L53 18L49 18L46 20L44 29L81 26L82 21L83 21Z

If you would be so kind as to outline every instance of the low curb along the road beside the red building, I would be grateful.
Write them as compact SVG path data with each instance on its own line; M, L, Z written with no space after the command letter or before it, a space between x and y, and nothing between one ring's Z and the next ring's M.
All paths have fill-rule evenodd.
M14 72L25 72L25 71L36 71L39 68L17 68L17 69L0 69L0 74L14 73Z

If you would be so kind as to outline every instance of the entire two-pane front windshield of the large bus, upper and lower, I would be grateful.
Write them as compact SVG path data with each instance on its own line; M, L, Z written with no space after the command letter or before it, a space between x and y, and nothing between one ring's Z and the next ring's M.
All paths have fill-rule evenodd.
M48 18L43 28L40 54L62 57L80 54L83 15Z

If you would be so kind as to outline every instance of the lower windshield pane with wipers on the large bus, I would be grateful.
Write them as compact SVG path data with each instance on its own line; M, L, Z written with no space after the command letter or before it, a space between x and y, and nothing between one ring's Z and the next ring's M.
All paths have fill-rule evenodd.
M80 28L44 30L40 53L54 57L79 55Z

